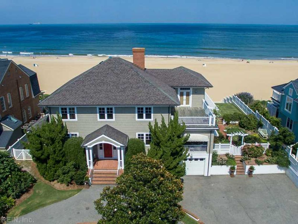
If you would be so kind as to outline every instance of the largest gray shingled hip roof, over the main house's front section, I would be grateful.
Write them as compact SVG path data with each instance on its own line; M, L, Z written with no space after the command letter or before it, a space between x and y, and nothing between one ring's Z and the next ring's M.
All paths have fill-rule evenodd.
M39 106L180 105L176 92L156 76L115 57L70 80Z

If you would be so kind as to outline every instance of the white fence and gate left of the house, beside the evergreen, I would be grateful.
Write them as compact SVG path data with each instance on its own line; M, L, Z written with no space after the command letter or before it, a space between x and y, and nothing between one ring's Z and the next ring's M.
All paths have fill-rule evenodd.
M24 149L22 142L27 142L27 136L24 134L18 139L12 146L7 149L7 152L13 156L16 160L32 160L30 150Z

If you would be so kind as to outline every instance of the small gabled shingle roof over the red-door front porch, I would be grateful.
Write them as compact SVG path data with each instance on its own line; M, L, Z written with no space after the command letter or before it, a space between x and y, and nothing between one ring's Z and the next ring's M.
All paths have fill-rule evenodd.
M82 146L87 144L88 142L93 141L97 137L105 135L122 145L127 145L128 135L124 134L121 131L118 131L115 128L112 128L110 125L104 125L103 127L97 129L96 131L92 132L91 134L87 135L82 143Z

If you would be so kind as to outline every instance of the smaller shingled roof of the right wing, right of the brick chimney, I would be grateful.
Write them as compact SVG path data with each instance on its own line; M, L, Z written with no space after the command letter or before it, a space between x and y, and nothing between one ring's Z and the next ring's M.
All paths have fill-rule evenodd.
M147 69L171 87L213 87L202 74L180 66L174 69Z

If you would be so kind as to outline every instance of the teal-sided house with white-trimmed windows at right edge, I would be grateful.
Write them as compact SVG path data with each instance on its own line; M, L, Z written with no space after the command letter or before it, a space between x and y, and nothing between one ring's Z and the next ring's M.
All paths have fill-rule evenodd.
M281 124L291 130L298 142L298 79L273 86L272 102L267 108L271 116L281 119Z

